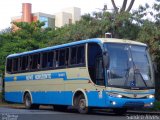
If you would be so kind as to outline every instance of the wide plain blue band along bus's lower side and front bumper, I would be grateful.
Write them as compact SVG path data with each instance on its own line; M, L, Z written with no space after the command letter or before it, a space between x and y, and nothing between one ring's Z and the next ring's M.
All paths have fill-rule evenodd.
M72 105L72 98L74 92L72 91L31 91L33 104L59 104L59 105ZM23 103L24 92L5 92L5 100L10 102ZM86 92L88 98L88 106L92 107L123 107L126 103L138 103L150 104L154 102L153 99L132 99L132 98L116 98L110 97L106 94L106 91L102 91L102 96L98 91ZM112 104L112 101L116 102L116 105Z

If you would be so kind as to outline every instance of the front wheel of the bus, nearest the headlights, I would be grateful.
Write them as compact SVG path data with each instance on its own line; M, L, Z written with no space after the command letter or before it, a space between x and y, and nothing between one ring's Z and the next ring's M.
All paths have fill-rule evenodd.
M80 95L78 97L78 112L79 113L82 113L82 114L86 114L89 112L89 109L88 107L86 107L86 99L84 97L84 95Z

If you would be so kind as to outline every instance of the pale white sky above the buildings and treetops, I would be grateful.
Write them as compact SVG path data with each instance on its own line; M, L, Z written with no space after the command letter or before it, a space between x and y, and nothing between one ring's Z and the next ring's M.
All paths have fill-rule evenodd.
M128 0L130 2L130 0ZM154 0L135 0L133 9L145 3L153 4ZM123 0L115 0L117 6L121 6ZM10 27L11 18L22 15L22 3L32 4L32 13L43 12L54 14L68 7L81 8L81 14L100 11L104 4L112 9L111 0L1 0L0 2L0 30Z

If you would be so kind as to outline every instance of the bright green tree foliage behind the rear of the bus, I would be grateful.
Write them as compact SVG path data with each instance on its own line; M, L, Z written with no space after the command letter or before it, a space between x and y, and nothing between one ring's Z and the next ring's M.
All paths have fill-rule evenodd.
M42 29L44 23L13 23L19 29L15 32L5 30L0 34L0 73L4 72L5 59L9 54L35 50L48 46L54 36L51 28Z

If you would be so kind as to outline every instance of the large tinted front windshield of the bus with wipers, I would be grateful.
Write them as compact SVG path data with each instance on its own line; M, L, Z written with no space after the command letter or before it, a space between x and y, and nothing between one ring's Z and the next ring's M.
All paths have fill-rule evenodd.
M133 89L154 87L153 69L146 46L105 44L110 64L108 86Z

